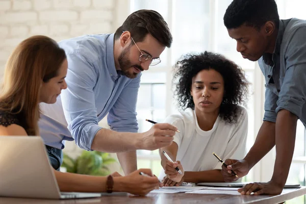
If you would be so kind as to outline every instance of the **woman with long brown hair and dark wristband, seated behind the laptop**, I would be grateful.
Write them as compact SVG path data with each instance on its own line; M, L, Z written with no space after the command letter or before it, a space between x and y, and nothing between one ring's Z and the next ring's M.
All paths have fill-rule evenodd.
M67 69L65 52L53 39L33 36L23 40L5 68L0 93L0 135L39 136L39 103L56 102L61 90L67 88ZM140 175L141 171L151 177ZM54 173L60 190L66 192L106 192L108 188L145 195L159 184L150 169L108 177L63 173L55 169ZM107 186L107 179L113 180L113 186Z

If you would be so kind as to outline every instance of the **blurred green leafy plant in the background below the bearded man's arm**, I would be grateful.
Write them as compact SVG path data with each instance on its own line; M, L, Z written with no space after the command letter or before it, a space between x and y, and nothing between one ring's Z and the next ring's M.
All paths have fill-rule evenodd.
M109 153L83 150L81 156L72 159L64 154L62 167L70 173L86 175L108 175L108 165L116 162Z

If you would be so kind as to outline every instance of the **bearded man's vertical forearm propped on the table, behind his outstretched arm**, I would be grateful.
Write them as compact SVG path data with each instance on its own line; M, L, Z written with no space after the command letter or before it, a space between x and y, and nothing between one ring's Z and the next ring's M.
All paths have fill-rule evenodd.
M125 175L137 170L136 150L119 152L117 157Z

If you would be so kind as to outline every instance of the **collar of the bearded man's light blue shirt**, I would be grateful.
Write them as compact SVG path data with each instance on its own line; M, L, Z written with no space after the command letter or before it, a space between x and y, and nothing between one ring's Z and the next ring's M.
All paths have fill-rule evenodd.
M114 58L114 33L110 34L106 39L106 64L112 77L117 77L118 73L115 66Z

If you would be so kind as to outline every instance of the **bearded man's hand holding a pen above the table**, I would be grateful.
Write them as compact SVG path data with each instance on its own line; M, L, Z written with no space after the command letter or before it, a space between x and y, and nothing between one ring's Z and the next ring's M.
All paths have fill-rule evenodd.
M155 150L172 144L177 128L168 123L157 123L147 132L141 133L137 149ZM169 137L167 137L169 136Z

